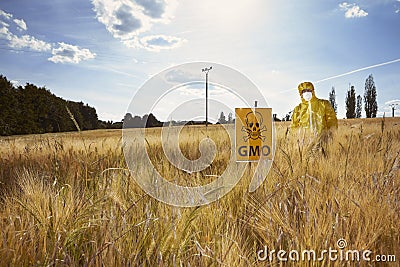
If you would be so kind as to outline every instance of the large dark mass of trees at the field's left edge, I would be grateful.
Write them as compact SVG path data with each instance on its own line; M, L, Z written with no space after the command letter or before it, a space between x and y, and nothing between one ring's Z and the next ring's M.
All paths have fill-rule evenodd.
M76 131L75 123L80 130L112 126L99 121L88 104L64 100L30 83L15 87L0 75L0 135Z

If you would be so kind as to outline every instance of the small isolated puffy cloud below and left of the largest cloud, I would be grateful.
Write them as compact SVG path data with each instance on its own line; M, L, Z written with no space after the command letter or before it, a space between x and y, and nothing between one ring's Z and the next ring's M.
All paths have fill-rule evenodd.
M58 43L58 48L53 48L53 54L48 60L54 63L79 63L82 60L88 60L96 57L95 53L90 52L89 49L80 48L75 45L66 43Z

